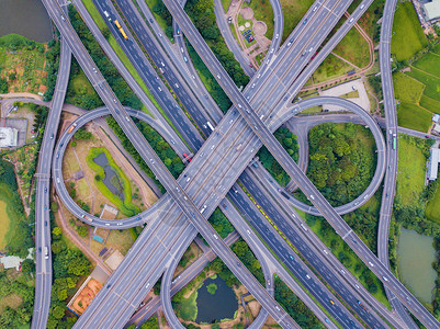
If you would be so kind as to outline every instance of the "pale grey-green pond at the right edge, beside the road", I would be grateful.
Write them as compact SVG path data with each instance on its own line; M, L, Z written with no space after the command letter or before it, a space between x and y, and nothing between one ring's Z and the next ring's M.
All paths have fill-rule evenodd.
M433 238L421 236L415 230L402 228L397 253L404 284L426 303L432 300L436 271L431 263L436 260L436 250L432 247Z

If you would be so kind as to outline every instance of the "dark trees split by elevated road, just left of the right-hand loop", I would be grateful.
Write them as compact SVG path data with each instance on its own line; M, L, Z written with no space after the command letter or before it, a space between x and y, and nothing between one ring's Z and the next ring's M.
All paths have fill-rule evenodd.
M285 127L280 127L275 133L278 141L284 147L284 149L291 155L292 159L297 162L298 160L298 144L296 141L297 136L289 132ZM257 156L260 158L262 166L271 173L271 175L277 180L277 182L285 186L290 177L281 167L280 163L273 158L266 146L261 147Z

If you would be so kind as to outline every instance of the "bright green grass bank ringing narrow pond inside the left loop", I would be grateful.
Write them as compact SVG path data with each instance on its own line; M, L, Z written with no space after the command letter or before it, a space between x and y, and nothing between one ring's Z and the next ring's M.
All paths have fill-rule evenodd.
M93 159L97 158L99 155L104 154L108 159L108 166L110 166L115 174L117 175L117 180L121 183L121 188L124 191L124 201L122 201L117 195L113 194L108 186L102 182L105 177L104 169L97 164ZM97 184L98 189L101 193L110 200L110 202L114 203L120 211L126 216L134 216L135 214L139 213L139 208L132 203L132 186L129 184L128 179L122 171L122 169L116 164L112 155L109 152L108 149L104 147L92 148L89 151L89 155L86 158L87 164L97 172L97 175L100 177L97 180L94 179L94 183ZM117 186L115 186L117 188Z

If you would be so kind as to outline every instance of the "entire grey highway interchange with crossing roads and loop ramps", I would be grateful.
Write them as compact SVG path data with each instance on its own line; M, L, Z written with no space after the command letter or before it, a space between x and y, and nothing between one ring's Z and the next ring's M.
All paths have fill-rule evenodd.
M261 68L256 72L249 70L246 58L240 60L240 56L236 56L251 76L250 82L242 92L234 84L183 11L184 3L174 0L163 1L174 20L176 45L172 46L160 31L145 1L136 1L142 14L146 18L144 21L134 1L115 0L112 3L106 0L93 0L110 31L177 132L129 76L80 0L72 0L74 5L128 86L147 106L151 116L122 106L70 25L66 11L67 4L55 0L42 1L60 32L61 55L57 86L50 104L37 168L37 268L33 328L46 327L50 305L50 227L47 224L49 222L47 205L50 178L66 207L87 224L113 229L146 224L146 228L121 265L78 319L76 328L123 328L127 324L138 325L157 309L159 303L162 305L171 327L183 328L172 310L170 299L172 294L203 270L208 262L207 256L190 266L185 271L188 274L180 275L174 281L172 281L172 275L183 252L198 234L201 234L208 242L211 260L219 257L261 304L262 310L252 322L251 328L261 328L268 315L272 316L283 328L300 328L273 298L274 274L279 275L329 328L337 326L343 328L413 328L415 324L406 309L427 328L440 328L432 315L388 270L387 239L397 169L397 148L391 147L393 136L397 134L397 122L390 64L390 43L396 0L386 0L385 2L381 31L380 63L385 105L385 139L377 123L361 107L348 100L314 98L295 104L291 103L313 71L365 12L372 3L371 0L362 1L351 14L350 20L347 20L324 46L321 46L323 42L351 1L317 0L287 37L289 43L286 42L280 48L281 37L274 38L271 45L273 53L268 53ZM273 0L271 3L275 18L281 18L275 20L275 32L282 31L280 2ZM218 3L216 5L218 7ZM121 22L128 35L127 41L105 19L104 11L110 13L113 20L117 19ZM223 10L218 13L217 11L218 8L217 15L223 12ZM223 16L217 16L217 20L225 21ZM221 23L219 27L223 29ZM183 60L182 56L189 58L183 34L234 103L227 114L223 114L208 95L191 60L189 63ZM318 53L311 60L317 50ZM87 214L70 198L64 185L61 162L72 133L64 132L58 139L54 138L54 135L56 136L58 131L71 55L76 57L105 104L102 109L80 116L75 123L74 132L92 120L112 115L167 190L167 193L156 204L132 218L104 220ZM155 66L160 68L160 75ZM166 84L171 87L179 102L176 101ZM353 112L356 120L366 124L373 133L377 149L377 167L371 184L357 200L339 208L331 207L304 174L305 155L301 157L300 164L296 164L272 135L281 124L301 111L329 103ZM183 111L191 116L199 131ZM179 156L184 152L194 155L193 160L188 163L179 179L174 180L131 117L137 117L151 125L168 140ZM335 121L337 120L339 118L335 118ZM350 117L345 120L353 121ZM207 123L215 127L214 131ZM180 139L178 134L185 143ZM262 145L271 151L296 185L307 195L313 207L297 204L292 197L281 197L280 186L273 182L266 170L248 166ZM237 180L240 185L236 183ZM377 258L340 215L365 203L382 182L384 192ZM295 250L273 229L241 188L252 195ZM321 215L334 227L336 232L382 281L393 306L392 311L368 293L312 230L307 229L305 222L292 205L307 213ZM217 206L236 229L236 232L226 239L219 238L207 222ZM266 286L262 286L253 277L229 249L228 246L234 239L237 239L237 234L245 239L261 263ZM48 257L45 254L46 247ZM160 299L156 298L156 302L139 308L142 300L160 276L162 276ZM131 319L133 314L135 316Z

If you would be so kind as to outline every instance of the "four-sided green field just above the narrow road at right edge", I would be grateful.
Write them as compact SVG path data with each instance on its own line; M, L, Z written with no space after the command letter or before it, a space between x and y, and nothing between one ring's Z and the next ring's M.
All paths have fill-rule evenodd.
M419 105L402 102L397 110L399 126L427 132L431 125L432 113Z

